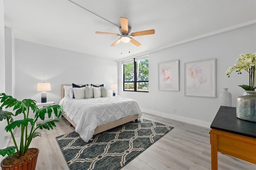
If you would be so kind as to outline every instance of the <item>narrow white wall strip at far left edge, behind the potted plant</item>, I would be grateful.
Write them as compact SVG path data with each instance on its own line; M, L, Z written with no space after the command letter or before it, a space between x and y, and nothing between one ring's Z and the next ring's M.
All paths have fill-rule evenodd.
M0 0L0 93L5 92L4 2ZM0 121L0 149L4 148L4 121ZM2 160L0 155L0 161Z

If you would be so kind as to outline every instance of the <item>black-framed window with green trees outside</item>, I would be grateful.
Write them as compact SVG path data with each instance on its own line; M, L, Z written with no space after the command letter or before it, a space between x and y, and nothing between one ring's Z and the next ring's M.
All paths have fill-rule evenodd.
M124 91L148 92L148 58L123 61Z

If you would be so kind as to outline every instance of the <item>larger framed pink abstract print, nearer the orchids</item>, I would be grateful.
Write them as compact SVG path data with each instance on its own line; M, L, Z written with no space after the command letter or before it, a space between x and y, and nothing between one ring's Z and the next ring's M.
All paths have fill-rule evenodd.
M216 59L185 63L185 96L216 97Z

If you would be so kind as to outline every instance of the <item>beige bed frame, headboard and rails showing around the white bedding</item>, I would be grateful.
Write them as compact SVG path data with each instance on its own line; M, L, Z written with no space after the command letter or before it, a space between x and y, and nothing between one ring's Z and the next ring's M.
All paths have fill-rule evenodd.
M66 84L66 86L72 86L72 84ZM82 86L82 85L80 85ZM64 85L61 85L61 88L60 88L60 94L61 94L61 99L64 98ZM67 117L67 115L65 115L64 113L62 113L62 116L67 119L67 121L70 123L70 125L76 127L76 124ZM137 121L138 120L138 115L131 115L131 116L128 116L128 117L124 117L122 119L119 119L117 121L112 121L112 122L109 122L109 123L106 123L104 125L100 125L98 127L96 127L96 129L94 130L94 134L98 134L100 132L104 132L108 129L111 129L111 128L114 128L114 127L118 127L120 125L123 125L125 123L128 123L130 121Z

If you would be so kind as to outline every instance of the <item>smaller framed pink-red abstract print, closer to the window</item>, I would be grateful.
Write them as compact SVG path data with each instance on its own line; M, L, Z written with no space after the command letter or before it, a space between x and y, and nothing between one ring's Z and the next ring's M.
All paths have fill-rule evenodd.
M179 86L179 60L158 63L158 89L180 91Z

